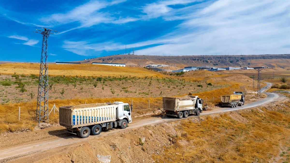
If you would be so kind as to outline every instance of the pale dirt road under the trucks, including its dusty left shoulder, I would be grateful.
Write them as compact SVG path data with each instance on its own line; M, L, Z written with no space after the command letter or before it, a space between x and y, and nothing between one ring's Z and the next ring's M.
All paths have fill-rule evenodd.
M268 88L271 87L271 83L267 83L267 86L261 89L261 92L264 92ZM256 101L250 104L245 104L243 106L238 106L235 108L218 108L212 111L204 111L200 116L209 115L209 114L215 114L215 113L222 113L227 111L235 111L235 110L241 110L245 108L251 108L256 106L265 105L268 103L271 103L275 100L278 100L282 96L276 93L266 93L268 97ZM195 116L189 116L188 118L195 117ZM122 132L123 130L129 130L132 128L139 128L141 126L145 125L151 125L151 124L159 124L163 122L170 122L170 121L176 121L178 119L176 118L170 118L165 116L151 116L146 118L137 118L135 119L135 122L132 124L129 124L127 128L125 129L112 129L106 132L102 132L100 135L90 135L89 137L85 139L81 139L77 137L76 135L71 135L68 133L65 133L64 131L61 131L63 127L57 126L56 130L53 131L44 131L44 134L39 134L42 131L31 131L26 133L26 137L22 137L21 133L19 134L19 138L13 141L8 142L2 142L0 141L0 162L6 162L6 161L13 161L14 159L25 157L28 155L39 155L43 151L50 151L54 150L55 148L65 148L66 146L74 145L78 142L89 142L91 139L100 139L103 138L105 135L114 134L118 132ZM51 130L51 129L50 129ZM30 133L33 133L34 135L30 135ZM23 134L23 133L22 133ZM40 135L40 136L39 136ZM14 136L15 138L16 136ZM17 143L16 141L19 141L19 139L23 139L22 142ZM26 141L25 141L26 140ZM6 144L5 144L6 143Z

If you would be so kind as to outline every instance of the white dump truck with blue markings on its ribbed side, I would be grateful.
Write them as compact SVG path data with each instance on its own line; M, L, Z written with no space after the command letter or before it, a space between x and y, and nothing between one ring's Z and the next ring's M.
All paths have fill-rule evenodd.
M128 103L99 103L59 107L59 124L67 132L85 138L99 135L102 130L114 127L126 128L132 122Z

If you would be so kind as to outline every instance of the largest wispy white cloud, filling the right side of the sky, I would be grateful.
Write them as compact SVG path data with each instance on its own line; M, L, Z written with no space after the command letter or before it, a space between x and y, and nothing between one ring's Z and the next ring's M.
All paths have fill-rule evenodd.
M289 8L289 1L216 1L184 14L177 30L132 46L157 44L141 50L160 55L289 53Z

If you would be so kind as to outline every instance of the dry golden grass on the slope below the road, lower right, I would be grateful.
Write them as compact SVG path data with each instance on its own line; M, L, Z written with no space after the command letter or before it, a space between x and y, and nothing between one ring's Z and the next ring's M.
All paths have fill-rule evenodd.
M240 111L249 120L246 124L228 114L182 120L176 126L177 143L153 159L168 163L268 162L279 155L281 146L289 147L289 100L285 104L260 108L264 113L257 109Z

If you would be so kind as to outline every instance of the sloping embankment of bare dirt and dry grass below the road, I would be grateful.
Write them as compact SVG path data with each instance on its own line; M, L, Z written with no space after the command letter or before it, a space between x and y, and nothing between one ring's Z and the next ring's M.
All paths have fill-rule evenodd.
M55 126L33 131L29 139L37 146L50 139L55 141L57 136L61 137L59 146L1 162L283 162L290 154L290 102L289 98L283 100L263 107L146 126L143 124L155 117L140 117L134 124L136 128L105 131L86 140L68 136L55 130L60 127ZM26 134L29 133L32 132ZM22 137L20 133L18 138L14 135L15 141L9 141L8 146L26 148L26 144L31 144L26 138L23 136L17 145ZM73 143L62 145L67 140ZM50 146L50 142L45 146Z

